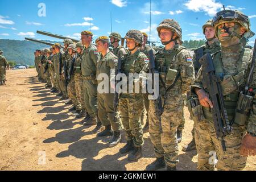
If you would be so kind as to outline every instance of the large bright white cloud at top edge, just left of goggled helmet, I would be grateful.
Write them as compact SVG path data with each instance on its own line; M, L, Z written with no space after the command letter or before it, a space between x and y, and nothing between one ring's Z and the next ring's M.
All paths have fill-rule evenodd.
M184 3L184 5L188 10L192 10L194 12L203 11L209 16L214 16L222 7L222 4L220 2L216 2L215 0L189 0L188 2Z

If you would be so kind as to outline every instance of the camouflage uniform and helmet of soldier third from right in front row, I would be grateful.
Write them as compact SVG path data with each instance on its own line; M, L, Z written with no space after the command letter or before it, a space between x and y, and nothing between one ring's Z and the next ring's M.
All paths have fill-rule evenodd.
M139 32L139 31L138 31ZM143 35L136 30L131 30L126 34L126 38L135 35ZM129 35L130 34L130 35ZM138 38L137 38L138 39ZM148 57L139 49L133 55L128 53L122 60L122 72L128 77L129 73L137 73L140 76L148 72ZM127 88L129 85L127 84ZM119 111L122 118L122 124L127 134L127 141L133 140L135 147L141 147L144 144L143 130L141 122L141 113L143 110L143 97L141 93L122 93L119 100Z

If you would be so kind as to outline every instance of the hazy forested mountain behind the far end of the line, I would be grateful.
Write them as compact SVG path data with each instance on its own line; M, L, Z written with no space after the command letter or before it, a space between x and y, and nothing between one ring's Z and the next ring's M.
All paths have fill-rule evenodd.
M49 40L43 40L51 42ZM62 42L51 42L61 43ZM36 49L49 48L45 44L30 42L27 40L0 39L0 49L8 61L15 61L17 64L34 65L34 52Z

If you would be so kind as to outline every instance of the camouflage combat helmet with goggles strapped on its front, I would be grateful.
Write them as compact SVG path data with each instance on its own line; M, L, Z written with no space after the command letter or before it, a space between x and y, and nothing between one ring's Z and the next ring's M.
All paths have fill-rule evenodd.
M250 31L250 19L247 15L237 10L222 10L213 17L212 25L214 27L215 36L217 37L218 26L222 23L235 22L239 23L246 32Z

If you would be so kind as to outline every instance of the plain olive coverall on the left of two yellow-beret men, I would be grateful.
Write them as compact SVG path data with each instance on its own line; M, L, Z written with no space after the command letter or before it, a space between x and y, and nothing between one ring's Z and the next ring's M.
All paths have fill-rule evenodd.
M82 34L84 34L84 32L82 32ZM98 60L100 60L100 53L98 53L96 46L91 43L89 47L85 49L81 63L85 107L91 118L95 118L98 114L96 80L96 66Z

